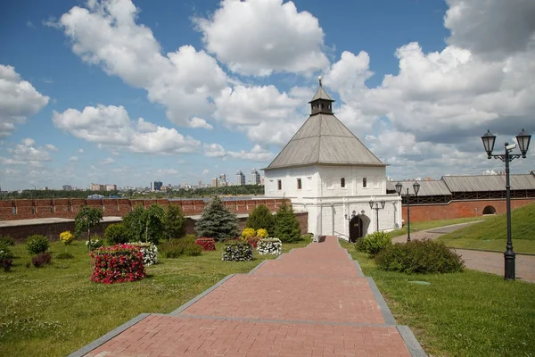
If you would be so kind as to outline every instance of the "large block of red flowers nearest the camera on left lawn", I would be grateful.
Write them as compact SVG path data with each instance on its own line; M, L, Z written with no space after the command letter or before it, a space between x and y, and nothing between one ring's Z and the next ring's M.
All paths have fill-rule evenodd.
M146 276L143 253L132 245L101 247L89 254L92 258L91 281L113 284L141 280Z

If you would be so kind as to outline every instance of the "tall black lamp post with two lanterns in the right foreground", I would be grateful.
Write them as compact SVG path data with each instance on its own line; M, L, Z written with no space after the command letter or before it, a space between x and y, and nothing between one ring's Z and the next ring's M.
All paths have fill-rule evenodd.
M504 263L505 263L505 275L506 280L514 280L514 259L516 253L513 251L513 242L511 240L511 185L509 182L509 162L512 162L514 159L522 157L526 158L526 153L530 147L531 135L527 134L524 129L516 136L516 142L518 143L518 148L522 154L510 154L513 149L516 147L516 144L509 145L505 144L506 152L505 154L492 154L494 150L494 142L496 141L496 136L487 130L485 135L481 137L483 141L483 146L487 152L487 158L499 159L502 162L506 162L506 217L507 217L507 245L506 252L504 253Z

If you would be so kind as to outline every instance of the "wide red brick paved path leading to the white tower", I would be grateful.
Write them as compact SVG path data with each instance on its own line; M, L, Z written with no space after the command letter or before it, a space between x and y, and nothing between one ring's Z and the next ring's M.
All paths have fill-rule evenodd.
M425 355L335 237L138 320L72 356Z

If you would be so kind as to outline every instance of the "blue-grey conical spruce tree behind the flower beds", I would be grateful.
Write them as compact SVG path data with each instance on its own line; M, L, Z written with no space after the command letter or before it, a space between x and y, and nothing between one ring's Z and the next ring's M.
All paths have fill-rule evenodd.
M199 237L211 237L218 241L234 238L239 235L238 218L226 209L218 196L214 196L195 223L195 231Z

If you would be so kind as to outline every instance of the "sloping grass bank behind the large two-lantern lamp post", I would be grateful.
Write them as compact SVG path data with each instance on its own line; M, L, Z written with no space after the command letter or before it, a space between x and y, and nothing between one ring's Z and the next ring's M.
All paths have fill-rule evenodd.
M506 215L491 216L477 223L439 237L446 245L456 248L506 249ZM535 253L535 203L511 212L511 237L517 253Z

